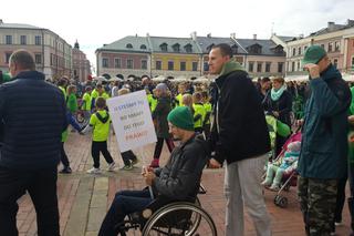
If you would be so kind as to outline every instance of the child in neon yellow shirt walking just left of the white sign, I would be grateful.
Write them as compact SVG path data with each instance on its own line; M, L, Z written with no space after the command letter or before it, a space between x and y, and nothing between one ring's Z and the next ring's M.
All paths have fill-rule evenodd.
M111 117L108 112L105 110L105 99L98 96L96 99L96 112L91 115L90 125L93 129L91 154L93 157L93 168L88 170L88 174L100 174L100 153L103 154L104 158L108 163L108 172L113 172L115 162L113 161L107 150L107 138L110 135L110 123ZM85 129L86 131L86 129ZM85 132L84 131L84 132Z

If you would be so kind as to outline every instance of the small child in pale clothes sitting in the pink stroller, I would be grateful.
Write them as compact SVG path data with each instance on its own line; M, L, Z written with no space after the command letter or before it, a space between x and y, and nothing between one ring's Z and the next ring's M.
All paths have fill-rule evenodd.
M299 141L290 143L288 145L288 150L284 153L283 158L281 160L281 163L271 163L268 165L267 176L266 179L262 182L263 186L270 186L269 189L271 191L280 189L280 183L283 177L283 173L290 171L293 164L295 164L295 162L298 161L300 155L300 147L301 142Z

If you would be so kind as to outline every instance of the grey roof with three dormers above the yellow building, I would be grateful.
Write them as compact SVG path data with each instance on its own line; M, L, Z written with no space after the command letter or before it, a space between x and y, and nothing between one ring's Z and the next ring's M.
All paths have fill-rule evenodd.
M152 51L153 52L164 52L164 53L176 53L174 51L174 45L179 44L179 53L188 53L188 54L196 54L201 53L197 43L191 40L190 38L169 38L169 37L149 37L150 43L152 43ZM167 44L167 51L162 50L162 44ZM190 45L191 51L186 51L186 45Z

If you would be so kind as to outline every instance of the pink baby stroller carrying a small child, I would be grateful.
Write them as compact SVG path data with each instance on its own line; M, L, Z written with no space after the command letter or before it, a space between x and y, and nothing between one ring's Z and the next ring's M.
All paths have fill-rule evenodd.
M292 142L301 142L301 132L296 131L294 134L292 134L287 142L284 143L281 153L278 155L275 160L272 161L272 163L281 163L282 158L284 157L284 153L288 151L288 145ZM277 195L274 196L274 204L279 207L287 207L288 206L288 198L285 196L282 196L283 191L289 191L291 186L296 186L298 182L298 173L296 173L296 166L298 161L294 162L290 170L283 173L282 181L281 181L281 187L278 191Z

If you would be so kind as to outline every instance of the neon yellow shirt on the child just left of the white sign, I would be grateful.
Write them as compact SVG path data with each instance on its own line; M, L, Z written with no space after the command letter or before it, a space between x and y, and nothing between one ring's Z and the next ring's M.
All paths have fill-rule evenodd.
M98 113L105 122L97 117ZM106 110L97 111L91 115L90 125L93 126L92 140L96 142L107 141L110 135L111 117Z

